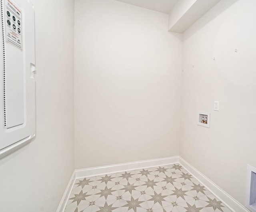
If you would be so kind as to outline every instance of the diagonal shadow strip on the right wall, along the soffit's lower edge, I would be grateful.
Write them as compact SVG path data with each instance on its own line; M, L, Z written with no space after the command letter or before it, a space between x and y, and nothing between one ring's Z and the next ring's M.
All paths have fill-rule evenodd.
M196 33L200 28L208 24L211 20L219 16L222 12L228 9L232 4L236 3L238 0L223 0L216 4L212 9L210 9L202 18L197 21L197 24L193 24L188 30L190 31L190 36ZM185 31L186 32L186 31ZM190 36L184 38L185 41Z

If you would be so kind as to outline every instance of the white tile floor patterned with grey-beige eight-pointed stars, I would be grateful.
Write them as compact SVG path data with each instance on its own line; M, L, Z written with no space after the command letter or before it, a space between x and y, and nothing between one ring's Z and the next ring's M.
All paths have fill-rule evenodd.
M65 212L231 212L179 164L77 179Z

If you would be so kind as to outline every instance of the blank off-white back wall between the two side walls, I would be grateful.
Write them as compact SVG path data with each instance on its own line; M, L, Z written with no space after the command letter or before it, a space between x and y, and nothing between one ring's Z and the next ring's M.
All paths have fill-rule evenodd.
M75 1L75 168L178 155L180 34L168 14Z

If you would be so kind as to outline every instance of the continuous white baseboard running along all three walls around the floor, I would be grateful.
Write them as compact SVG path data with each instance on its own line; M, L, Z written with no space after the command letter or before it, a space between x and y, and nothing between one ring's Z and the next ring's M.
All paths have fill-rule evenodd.
M72 191L72 187L74 186L74 182L76 179L141 168L149 168L154 166L164 166L174 163L179 163L183 168L188 170L188 172L190 172L190 174L192 174L194 178L201 182L210 192L212 192L212 194L214 194L214 196L221 200L223 204L225 204L233 212L250 212L250 210L245 208L242 204L240 204L238 201L232 198L232 196L224 192L224 190L222 190L220 187L214 184L214 182L212 182L210 179L204 176L204 174L199 172L196 168L191 166L188 162L186 162L179 156L75 170L73 175L71 176L71 179L68 183L68 186L64 192L64 195L56 212L64 212L66 203L68 201L68 197Z

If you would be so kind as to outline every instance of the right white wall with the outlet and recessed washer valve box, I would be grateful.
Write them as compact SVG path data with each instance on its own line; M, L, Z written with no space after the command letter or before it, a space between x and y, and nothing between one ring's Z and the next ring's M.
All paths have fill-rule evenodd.
M256 166L255 8L255 0L221 1L183 44L180 155L242 204L246 164ZM211 113L210 129L196 125L197 111Z

